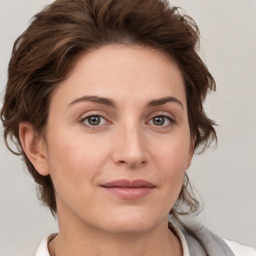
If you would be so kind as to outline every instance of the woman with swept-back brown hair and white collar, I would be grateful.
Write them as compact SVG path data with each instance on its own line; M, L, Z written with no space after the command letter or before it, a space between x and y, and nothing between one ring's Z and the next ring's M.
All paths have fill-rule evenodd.
M178 217L198 208L193 152L216 139L197 43L193 20L158 0L57 0L16 40L4 137L59 223L37 256L234 255Z

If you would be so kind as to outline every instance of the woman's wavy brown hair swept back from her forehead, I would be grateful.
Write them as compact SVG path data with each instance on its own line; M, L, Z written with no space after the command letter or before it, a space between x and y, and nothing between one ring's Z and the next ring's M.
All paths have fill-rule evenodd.
M206 94L215 82L196 50L199 30L194 20L181 15L167 0L56 0L34 15L16 39L8 67L1 120L4 140L22 155L39 198L56 213L54 187L49 175L40 175L25 155L19 123L29 121L38 136L47 122L50 96L81 53L105 44L140 44L157 49L175 61L186 90L188 121L194 149L203 152L216 133L203 110ZM17 146L14 152L8 136ZM185 176L173 215L195 212L198 202ZM187 205L180 211L180 203Z

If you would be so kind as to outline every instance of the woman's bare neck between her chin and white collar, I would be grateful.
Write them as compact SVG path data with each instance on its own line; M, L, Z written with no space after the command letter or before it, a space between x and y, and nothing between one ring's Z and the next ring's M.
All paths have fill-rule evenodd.
M51 256L182 255L177 237L167 228L167 218L144 232L118 233L107 232L61 214L58 214L58 222L59 234L48 244Z

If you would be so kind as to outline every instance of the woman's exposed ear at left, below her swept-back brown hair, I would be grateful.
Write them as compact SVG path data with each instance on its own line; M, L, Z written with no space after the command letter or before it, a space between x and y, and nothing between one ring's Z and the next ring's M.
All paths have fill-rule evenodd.
M35 136L31 123L21 122L19 124L19 139L26 156L38 173L48 175L45 140Z

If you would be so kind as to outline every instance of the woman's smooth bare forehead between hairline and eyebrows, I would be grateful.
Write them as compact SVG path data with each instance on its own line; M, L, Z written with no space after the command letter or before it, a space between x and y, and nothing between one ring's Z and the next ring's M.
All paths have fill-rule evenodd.
M176 96L185 100L183 78L177 66L160 51L141 46L107 45L80 55L52 100L99 95L124 98Z

